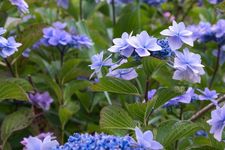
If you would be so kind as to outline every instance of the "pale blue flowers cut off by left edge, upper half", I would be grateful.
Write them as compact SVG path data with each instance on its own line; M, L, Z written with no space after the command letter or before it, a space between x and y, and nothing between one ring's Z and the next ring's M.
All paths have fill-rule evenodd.
M18 47L22 44L17 43L14 37L8 37L5 39L2 35L6 32L4 28L0 28L0 56L7 58L18 51Z

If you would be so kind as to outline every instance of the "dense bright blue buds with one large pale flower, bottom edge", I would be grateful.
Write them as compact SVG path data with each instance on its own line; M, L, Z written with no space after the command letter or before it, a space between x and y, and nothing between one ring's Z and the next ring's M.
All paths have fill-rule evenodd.
M162 150L163 146L153 140L151 131L142 132L138 127L135 128L137 142L130 136L113 136L107 134L79 134L70 136L68 142L62 146L57 146L53 150Z

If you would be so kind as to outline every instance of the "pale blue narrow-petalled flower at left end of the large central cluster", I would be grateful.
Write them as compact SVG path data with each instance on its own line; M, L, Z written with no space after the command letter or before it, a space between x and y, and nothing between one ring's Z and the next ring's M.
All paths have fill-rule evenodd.
M112 59L110 58L111 56L107 57L105 60L103 59L103 51L100 52L99 54L96 54L91 57L91 62L92 64L89 65L92 70L94 70L94 73L98 74L101 72L101 68L103 66L112 66ZM92 75L91 75L92 76Z

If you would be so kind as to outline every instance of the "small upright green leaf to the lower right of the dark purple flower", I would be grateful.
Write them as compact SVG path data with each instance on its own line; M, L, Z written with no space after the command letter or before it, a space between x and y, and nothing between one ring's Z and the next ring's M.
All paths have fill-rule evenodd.
M65 105L59 108L59 119L63 127L79 109L79 104L72 101L67 101Z

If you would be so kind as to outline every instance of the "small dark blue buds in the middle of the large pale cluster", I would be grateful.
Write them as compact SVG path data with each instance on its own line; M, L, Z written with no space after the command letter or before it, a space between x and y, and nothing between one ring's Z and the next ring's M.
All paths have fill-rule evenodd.
M157 44L161 46L162 50L160 51L152 51L151 56L159 58L159 59L166 59L170 57L174 52L171 50L168 40L167 39L158 39Z

